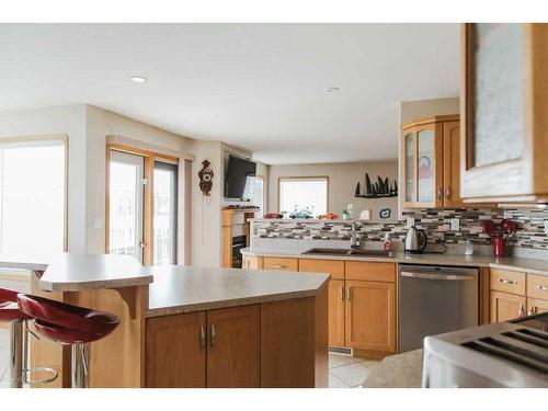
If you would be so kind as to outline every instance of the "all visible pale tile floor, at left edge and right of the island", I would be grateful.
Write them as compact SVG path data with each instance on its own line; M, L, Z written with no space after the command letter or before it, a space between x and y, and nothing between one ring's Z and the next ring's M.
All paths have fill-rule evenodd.
M8 373L10 341L9 331L0 328L0 377ZM329 388L359 387L377 361L354 358L341 354L329 354ZM0 388L9 387L9 375L0 381Z

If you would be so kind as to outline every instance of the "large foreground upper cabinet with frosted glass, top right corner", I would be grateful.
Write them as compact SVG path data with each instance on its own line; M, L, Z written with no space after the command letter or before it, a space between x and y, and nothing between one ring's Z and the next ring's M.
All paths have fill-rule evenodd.
M548 24L464 24L460 195L548 201Z

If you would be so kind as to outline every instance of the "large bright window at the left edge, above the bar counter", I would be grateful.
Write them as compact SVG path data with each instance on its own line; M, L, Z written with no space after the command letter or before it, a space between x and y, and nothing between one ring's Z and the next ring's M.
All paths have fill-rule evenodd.
M65 250L65 139L0 140L0 254Z

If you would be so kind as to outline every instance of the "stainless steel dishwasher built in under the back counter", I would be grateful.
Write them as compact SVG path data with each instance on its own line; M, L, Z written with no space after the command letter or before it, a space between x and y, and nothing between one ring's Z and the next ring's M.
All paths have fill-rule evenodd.
M399 266L399 349L422 347L426 335L478 326L478 270Z

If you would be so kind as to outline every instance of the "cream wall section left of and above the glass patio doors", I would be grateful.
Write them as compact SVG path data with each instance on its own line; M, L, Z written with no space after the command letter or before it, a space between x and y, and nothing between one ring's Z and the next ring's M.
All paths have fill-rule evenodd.
M192 140L93 105L85 107L85 133L88 137L85 250L103 253L105 228L93 228L93 218L105 218L106 136L121 135L181 153L190 151Z

